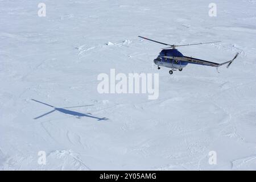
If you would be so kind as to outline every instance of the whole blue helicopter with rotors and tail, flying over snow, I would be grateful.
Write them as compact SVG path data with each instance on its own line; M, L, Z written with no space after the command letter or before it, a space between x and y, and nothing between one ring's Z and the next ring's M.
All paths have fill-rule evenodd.
M187 64L199 64L199 65L205 65L205 66L210 66L210 67L220 67L222 65L228 64L227 68L229 68L230 64L237 58L238 54L234 56L234 58L230 61L226 61L224 63L213 63L210 61L205 61L201 59L196 59L194 57L188 57L188 56L183 56L181 52L179 52L176 47L181 47L181 46L194 46L194 45L200 45L200 44L210 44L210 43L217 43L217 42L205 42L205 43L197 43L197 44L185 44L185 45L172 45L172 44L166 44L162 42L158 42L152 39L144 38L143 36L139 36L139 38L150 40L155 43L163 44L165 46L170 46L167 48L164 48L160 53L159 56L154 59L154 63L158 65L158 69L160 67L167 67L171 68L169 71L170 75L174 73L177 69L179 71L182 71L182 69L187 65ZM220 41L218 41L220 42Z

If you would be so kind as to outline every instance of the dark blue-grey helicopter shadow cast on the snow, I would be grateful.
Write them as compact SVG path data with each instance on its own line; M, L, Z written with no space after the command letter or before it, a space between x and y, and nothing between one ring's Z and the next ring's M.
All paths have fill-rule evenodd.
M89 117L89 118L97 119L98 121L108 120L108 118L98 118L98 117L95 117L95 116L93 116L93 115L90 114L90 113L84 114L84 113L79 113L79 112L77 112L77 111L68 110L69 108L86 107L86 106L93 106L93 105L72 106L72 107L55 107L55 106L52 106L52 105L49 105L49 104L46 104L46 103L44 103L44 102L40 102L40 101L37 101L37 100L34 100L34 99L31 99L31 100L32 100L32 101L35 101L35 102L38 102L38 103L40 103L40 104L47 105L47 106L53 108L53 110L49 111L48 113L39 115L38 117L36 117L36 118L34 118L34 119L39 119L39 118L42 118L42 117L44 117L44 116L46 116L46 115L48 115L48 114L53 113L54 111L59 111L60 113L64 113L64 114L68 114L68 115L73 115L73 116L75 116L76 118L79 118L79 119L81 119L81 117Z

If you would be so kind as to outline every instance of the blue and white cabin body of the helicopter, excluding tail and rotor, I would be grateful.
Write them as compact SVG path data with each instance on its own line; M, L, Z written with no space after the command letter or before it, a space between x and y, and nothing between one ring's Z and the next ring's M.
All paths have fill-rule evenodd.
M154 60L154 63L160 67L167 67L172 69L182 69L188 64L186 61L168 59L164 58L164 56L184 57L183 54L177 49L163 49L159 53L159 56Z

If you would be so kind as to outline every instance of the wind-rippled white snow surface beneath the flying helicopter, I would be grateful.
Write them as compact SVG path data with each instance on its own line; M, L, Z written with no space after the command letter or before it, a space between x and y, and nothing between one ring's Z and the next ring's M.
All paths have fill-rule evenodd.
M46 17L38 4L46 3ZM256 169L256 1L1 0L0 169ZM164 46L229 69L159 71ZM159 73L159 98L99 94L97 75ZM70 108L89 116L54 111ZM38 152L46 151L46 165ZM208 163L209 151L217 164Z

